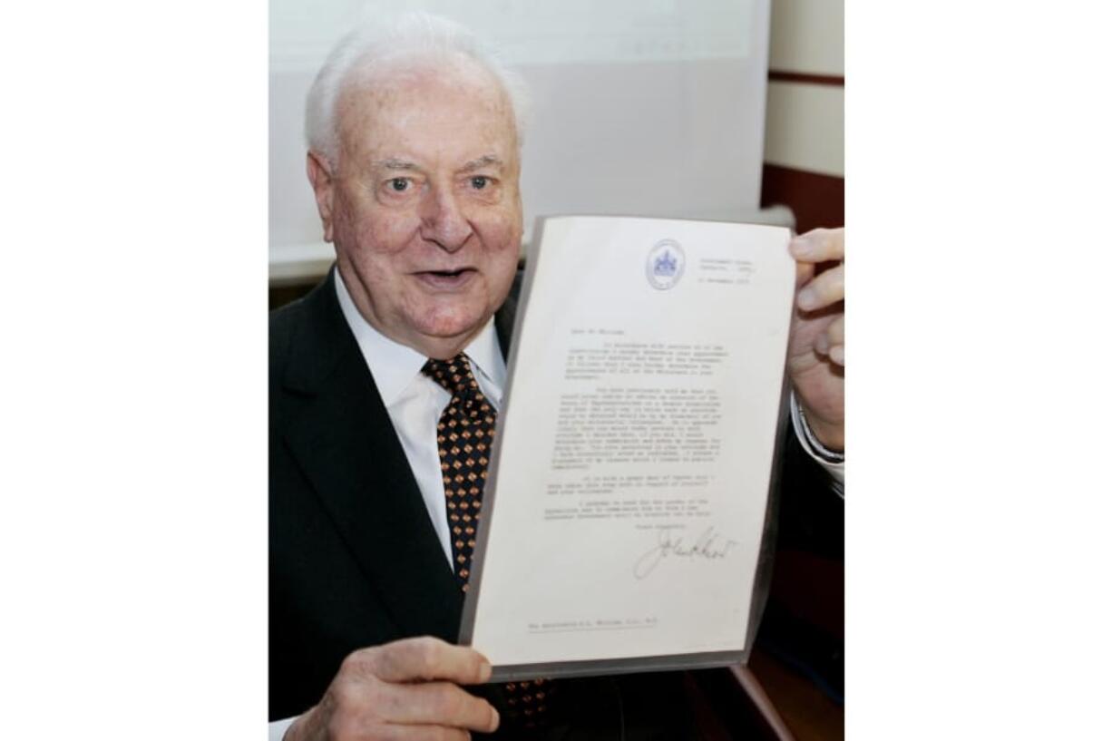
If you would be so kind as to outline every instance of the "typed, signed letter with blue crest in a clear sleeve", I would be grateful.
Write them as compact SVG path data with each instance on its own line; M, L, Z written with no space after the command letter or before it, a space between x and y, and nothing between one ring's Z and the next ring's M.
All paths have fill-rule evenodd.
M711 221L542 224L460 635L496 679L742 658L788 239Z

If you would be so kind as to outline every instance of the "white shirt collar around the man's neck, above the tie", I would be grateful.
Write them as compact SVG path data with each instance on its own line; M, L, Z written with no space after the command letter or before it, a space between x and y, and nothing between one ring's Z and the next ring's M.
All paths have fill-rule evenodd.
M383 403L390 406L413 383L414 377L420 375L420 369L428 358L411 347L394 342L370 326L356 308L338 270L335 283L344 318L355 335L370 375L375 378L375 386L378 387ZM471 367L490 382L500 397L506 385L506 362L498 345L494 317L487 320L486 326L468 343L464 352L470 358ZM497 403L500 398L495 401Z

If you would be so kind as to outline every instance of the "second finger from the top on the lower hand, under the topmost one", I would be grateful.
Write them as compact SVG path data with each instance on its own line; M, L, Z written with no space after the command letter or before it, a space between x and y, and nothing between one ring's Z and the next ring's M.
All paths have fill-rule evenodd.
M450 682L394 684L384 718L391 723L446 725L490 733L498 728L498 711Z

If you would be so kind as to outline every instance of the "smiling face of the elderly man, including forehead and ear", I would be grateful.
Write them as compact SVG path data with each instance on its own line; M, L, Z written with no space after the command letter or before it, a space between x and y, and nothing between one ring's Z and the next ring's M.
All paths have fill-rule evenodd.
M326 239L360 313L434 357L505 300L522 239L513 111L486 72L418 69L351 86L330 177L310 156ZM314 168L318 171L314 174Z

